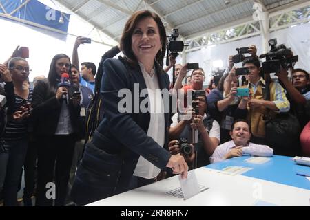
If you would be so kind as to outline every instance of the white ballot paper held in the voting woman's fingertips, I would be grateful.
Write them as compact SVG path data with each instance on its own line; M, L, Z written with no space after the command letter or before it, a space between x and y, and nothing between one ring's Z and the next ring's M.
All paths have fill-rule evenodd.
M180 180L180 186L182 188L184 199L189 199L190 197L194 197L200 192L198 181L195 175L195 170L191 170L187 174L187 179L181 179L179 176L178 179Z

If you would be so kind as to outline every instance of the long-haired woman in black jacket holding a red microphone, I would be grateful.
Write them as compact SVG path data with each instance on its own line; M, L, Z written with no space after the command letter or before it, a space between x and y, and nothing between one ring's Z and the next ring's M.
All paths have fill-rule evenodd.
M67 55L54 56L48 78L37 82L32 96L34 133L39 142L36 206L52 206L55 196L55 206L65 203L81 110L80 98L72 96L79 87L73 83L59 86L61 75L70 74L70 65ZM53 179L55 185L50 184Z

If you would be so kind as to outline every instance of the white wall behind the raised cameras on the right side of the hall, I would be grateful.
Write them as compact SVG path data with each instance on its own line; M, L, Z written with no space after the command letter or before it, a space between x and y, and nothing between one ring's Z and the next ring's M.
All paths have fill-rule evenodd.
M310 72L310 23L272 32L270 39L273 38L277 39L278 44L284 43L287 47L291 47L293 53L299 56L299 61L295 67L306 69ZM262 36L203 47L200 50L187 53L186 61L187 63L198 62L200 67L203 67L207 73L205 83L208 83L208 74L211 74L211 71L216 69L212 67L212 61L222 60L223 69L225 69L228 56L237 54L237 47L248 47L249 45L256 45L258 47L257 54L261 54ZM236 66L238 65L240 64Z

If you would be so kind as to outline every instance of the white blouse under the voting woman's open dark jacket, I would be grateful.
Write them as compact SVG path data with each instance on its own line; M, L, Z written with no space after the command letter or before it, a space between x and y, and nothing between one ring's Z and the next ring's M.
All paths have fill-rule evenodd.
M147 129L147 136L152 137L159 146L163 147L165 143L165 116L158 78L156 76L155 68L152 69L151 76L149 76L143 65L141 63L139 63L139 65L147 87L147 94L149 96L150 120L149 128ZM140 156L138 163L136 164L136 169L134 170L134 176L152 179L160 172L161 169Z

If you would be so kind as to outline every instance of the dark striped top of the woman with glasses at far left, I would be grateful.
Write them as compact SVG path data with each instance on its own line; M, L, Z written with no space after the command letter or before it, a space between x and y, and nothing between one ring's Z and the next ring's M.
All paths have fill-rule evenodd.
M32 102L32 89L29 90L29 95L27 99L21 98L20 96L16 96L14 112L20 111L20 108L26 102ZM9 120L6 124L6 130L1 140L21 140L23 138L28 137L28 118L17 122L15 120Z

